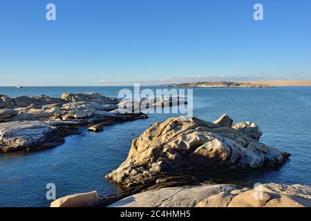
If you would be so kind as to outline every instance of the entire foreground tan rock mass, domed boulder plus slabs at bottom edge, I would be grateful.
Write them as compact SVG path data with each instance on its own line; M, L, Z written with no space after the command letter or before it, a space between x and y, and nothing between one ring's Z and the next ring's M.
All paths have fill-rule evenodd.
M242 174L285 163L290 153L259 142L262 134L258 125L233 124L227 115L213 123L196 117L167 119L153 124L133 140L127 159L106 175L106 179L120 186L123 194L68 195L51 206L311 206L311 186L258 184L253 189L200 182L202 175L226 176L234 171Z

